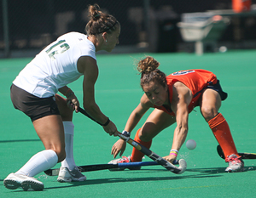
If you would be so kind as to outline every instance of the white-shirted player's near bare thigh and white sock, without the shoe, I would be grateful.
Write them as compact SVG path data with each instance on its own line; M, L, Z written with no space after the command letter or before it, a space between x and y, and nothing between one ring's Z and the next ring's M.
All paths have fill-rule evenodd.
M17 173L30 177L35 176L65 158L64 133L61 116L44 116L33 122L38 137L44 144L45 150L32 156L26 165L20 168Z

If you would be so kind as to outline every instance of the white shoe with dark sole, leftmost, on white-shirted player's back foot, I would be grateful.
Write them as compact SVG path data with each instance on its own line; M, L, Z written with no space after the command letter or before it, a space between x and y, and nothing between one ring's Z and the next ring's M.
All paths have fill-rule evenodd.
M18 188L21 188L25 191L44 190L44 184L38 181L38 179L15 173L10 173L9 176L3 180L3 184L9 190L15 190Z

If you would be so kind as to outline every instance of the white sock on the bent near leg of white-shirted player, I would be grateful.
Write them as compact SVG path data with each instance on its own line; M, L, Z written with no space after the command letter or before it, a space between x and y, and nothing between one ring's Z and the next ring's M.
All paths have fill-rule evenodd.
M38 173L54 167L58 162L58 156L54 150L43 150L32 156L26 164L20 168L15 174L23 174L34 177Z

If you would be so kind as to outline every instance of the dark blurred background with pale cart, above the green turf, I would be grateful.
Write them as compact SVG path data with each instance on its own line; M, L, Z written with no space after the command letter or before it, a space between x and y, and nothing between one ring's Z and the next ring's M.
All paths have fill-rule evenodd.
M256 0L241 2L248 8L234 12L234 0L2 0L0 58L32 57L62 34L84 33L94 3L121 24L113 53L256 48Z

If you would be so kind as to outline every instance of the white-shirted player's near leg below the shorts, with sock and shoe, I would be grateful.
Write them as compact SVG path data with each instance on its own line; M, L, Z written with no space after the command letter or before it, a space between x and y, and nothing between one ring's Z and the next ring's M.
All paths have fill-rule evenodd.
M38 152L26 162L16 173L4 179L8 189L22 187L23 190L44 190L44 184L32 178L65 158L64 133L61 116L44 116L33 122L38 137L42 140L45 150Z

